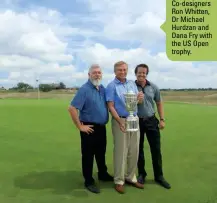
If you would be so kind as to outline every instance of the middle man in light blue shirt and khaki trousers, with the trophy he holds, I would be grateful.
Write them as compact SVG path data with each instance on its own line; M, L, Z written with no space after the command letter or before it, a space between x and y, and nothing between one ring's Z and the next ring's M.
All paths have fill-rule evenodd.
M127 71L127 63L115 63L116 77L106 88L106 100L112 115L114 183L119 193L125 192L124 183L143 189L143 184L137 181L136 169L140 139L137 104L143 101L144 95L138 92L134 81L126 79Z

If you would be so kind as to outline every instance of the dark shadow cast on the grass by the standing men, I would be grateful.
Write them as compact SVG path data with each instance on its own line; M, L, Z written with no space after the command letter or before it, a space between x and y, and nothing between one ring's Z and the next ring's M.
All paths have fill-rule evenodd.
M52 190L55 194L88 197L82 174L78 171L31 172L14 180L15 187L30 190ZM100 183L100 188L112 188L111 183Z

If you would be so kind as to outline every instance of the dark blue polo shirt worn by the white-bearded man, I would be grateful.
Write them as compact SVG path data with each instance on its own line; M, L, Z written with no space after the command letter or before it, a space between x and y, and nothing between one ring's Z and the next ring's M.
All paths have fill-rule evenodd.
M77 91L71 101L71 105L79 110L79 119L83 122L106 124L109 119L105 98L105 88L99 86L99 90L88 80Z

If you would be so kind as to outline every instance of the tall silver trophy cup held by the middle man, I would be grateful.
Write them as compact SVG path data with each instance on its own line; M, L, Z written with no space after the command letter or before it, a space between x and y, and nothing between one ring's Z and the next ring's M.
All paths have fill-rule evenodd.
M125 129L126 132L136 132L139 130L139 120L137 116L134 116L134 112L137 110L137 94L132 90L124 94L126 102L126 110L129 112L129 116L126 118Z

